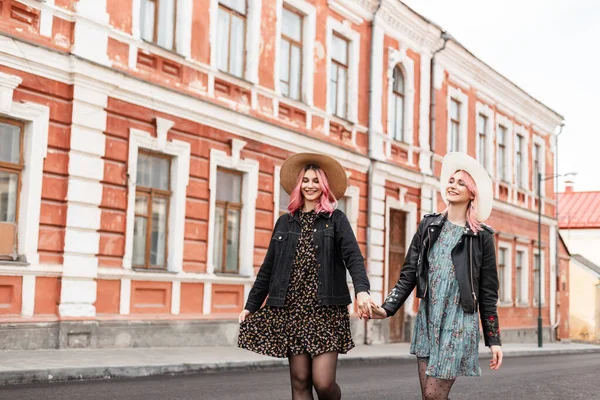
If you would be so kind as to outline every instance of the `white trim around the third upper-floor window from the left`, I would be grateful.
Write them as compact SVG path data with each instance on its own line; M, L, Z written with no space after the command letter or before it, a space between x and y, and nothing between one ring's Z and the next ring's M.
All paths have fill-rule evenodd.
M279 48L281 45L281 21L283 5L287 4L303 14L302 18L302 82L300 100L308 106L313 105L315 34L317 30L316 8L302 0L277 0L277 22L275 24L275 69L273 80L275 92L281 95L279 88Z

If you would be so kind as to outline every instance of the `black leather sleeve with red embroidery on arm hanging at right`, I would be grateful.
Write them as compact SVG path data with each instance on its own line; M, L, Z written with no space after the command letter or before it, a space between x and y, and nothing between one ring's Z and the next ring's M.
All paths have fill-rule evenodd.
M496 245L494 236L481 236L483 260L479 282L479 314L486 346L501 346L498 323L498 270L496 269Z

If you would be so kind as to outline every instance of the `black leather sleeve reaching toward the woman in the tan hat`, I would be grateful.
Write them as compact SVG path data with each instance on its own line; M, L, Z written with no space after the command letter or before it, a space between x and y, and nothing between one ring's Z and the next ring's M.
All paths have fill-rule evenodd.
M383 309L387 312L388 317L396 314L417 284L417 265L421 254L421 237L423 235L424 225L425 219L422 219L417 228L417 233L413 236L413 240L406 253L404 265L400 271L400 278L385 298L385 302L382 305Z

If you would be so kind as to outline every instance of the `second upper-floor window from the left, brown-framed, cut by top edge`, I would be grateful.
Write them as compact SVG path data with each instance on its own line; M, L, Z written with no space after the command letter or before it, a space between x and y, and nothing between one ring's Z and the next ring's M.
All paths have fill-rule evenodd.
M239 78L246 67L246 19L245 0L219 0L217 68Z

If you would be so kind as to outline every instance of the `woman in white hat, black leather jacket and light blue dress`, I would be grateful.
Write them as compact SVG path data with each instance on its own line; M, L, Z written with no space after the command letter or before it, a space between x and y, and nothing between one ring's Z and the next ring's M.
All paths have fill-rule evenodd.
M457 376L479 376L479 321L490 368L502 364L498 273L494 231L483 224L492 211L492 182L485 169L464 153L442 163L440 193L448 208L423 217L400 279L375 318L392 316L417 287L421 299L410 352L417 356L423 399L448 398Z

